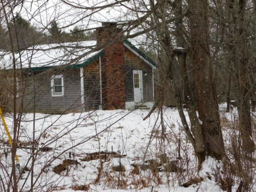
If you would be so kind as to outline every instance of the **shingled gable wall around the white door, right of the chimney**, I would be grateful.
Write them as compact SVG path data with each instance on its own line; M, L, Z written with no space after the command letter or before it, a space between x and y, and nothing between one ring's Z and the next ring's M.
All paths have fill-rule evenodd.
M152 102L154 97L151 66L136 56L133 52L128 50L126 47L124 49L124 63L126 76L126 102L134 101L133 70L142 70L143 102ZM147 73L147 76L144 76L144 73Z

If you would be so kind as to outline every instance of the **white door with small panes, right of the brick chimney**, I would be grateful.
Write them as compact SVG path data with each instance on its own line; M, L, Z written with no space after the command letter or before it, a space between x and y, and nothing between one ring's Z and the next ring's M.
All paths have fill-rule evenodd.
M143 102L143 90L142 90L142 71L133 71L133 90L134 90L134 102Z

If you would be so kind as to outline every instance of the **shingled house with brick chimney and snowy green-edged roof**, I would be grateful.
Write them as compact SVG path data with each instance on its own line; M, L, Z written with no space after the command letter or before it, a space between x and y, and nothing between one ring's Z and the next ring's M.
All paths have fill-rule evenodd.
M63 113L91 109L151 108L156 63L116 23L96 29L97 41L34 46L24 51L18 102L24 111ZM97 48L97 50L94 50ZM24 82L26 79L26 82Z

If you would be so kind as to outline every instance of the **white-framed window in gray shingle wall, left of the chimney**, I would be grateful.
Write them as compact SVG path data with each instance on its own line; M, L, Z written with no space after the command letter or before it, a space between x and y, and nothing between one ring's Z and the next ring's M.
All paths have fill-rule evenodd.
M54 75L51 80L52 96L64 95L63 75Z

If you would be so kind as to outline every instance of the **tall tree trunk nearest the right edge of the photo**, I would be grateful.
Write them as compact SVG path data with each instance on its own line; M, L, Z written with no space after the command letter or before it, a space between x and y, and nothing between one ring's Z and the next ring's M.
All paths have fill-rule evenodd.
M252 124L250 112L250 77L249 62L247 50L247 33L244 30L244 14L246 9L246 0L239 0L238 11L238 44L235 60L235 67L238 73L239 94L237 98L239 128L242 136L242 148L248 152L254 152L255 144L252 140Z

